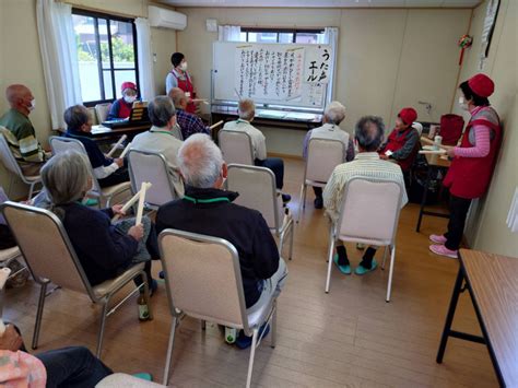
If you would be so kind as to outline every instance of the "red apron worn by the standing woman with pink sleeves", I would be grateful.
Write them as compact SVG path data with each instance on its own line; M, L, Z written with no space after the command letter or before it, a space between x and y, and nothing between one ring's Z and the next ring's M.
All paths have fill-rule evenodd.
M454 196L466 199L482 197L487 191L502 140L502 127L499 125L484 118L471 118L462 137L461 148L473 146L469 139L473 126L486 126L493 130L494 137L491 140L490 153L484 157L456 156L443 181L443 185L448 187Z

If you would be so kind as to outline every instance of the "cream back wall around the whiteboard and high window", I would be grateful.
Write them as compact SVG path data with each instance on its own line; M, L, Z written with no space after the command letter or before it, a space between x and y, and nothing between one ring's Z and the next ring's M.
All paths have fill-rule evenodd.
M379 115L388 129L403 106L420 119L438 121L449 113L457 81L457 42L468 32L471 10L429 9L222 9L179 8L188 15L178 50L189 62L198 94L210 96L212 43L205 20L220 25L340 28L335 98L348 108L344 129L363 115ZM419 101L434 106L428 116ZM263 129L270 152L301 154L305 131Z

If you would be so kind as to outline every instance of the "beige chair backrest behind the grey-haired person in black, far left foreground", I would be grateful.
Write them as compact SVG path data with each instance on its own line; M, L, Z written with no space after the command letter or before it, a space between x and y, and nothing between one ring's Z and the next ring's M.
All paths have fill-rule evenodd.
M3 203L1 210L37 282L48 279L95 301L67 232L54 213L11 201Z

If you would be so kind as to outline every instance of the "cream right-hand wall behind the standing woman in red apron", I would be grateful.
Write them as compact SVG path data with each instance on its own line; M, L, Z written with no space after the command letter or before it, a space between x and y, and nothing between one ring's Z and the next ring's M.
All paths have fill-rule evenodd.
M478 56L485 10L486 2L474 11L470 31L470 35L473 35L473 47L467 52L460 81L480 72ZM496 85L490 102L501 116L504 141L490 190L473 208L466 231L468 242L473 248L513 257L518 257L518 235L510 233L505 221L511 196L518 186L517 14L517 1L501 1L490 56L482 70ZM454 113L463 114L464 119L469 119L469 115L458 106L454 107Z

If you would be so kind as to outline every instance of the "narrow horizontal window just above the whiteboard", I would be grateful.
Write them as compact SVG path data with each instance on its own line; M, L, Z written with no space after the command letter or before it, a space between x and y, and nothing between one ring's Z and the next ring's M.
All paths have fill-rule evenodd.
M323 40L323 30L289 30L289 28L247 28L242 27L242 42L255 43L308 43Z

